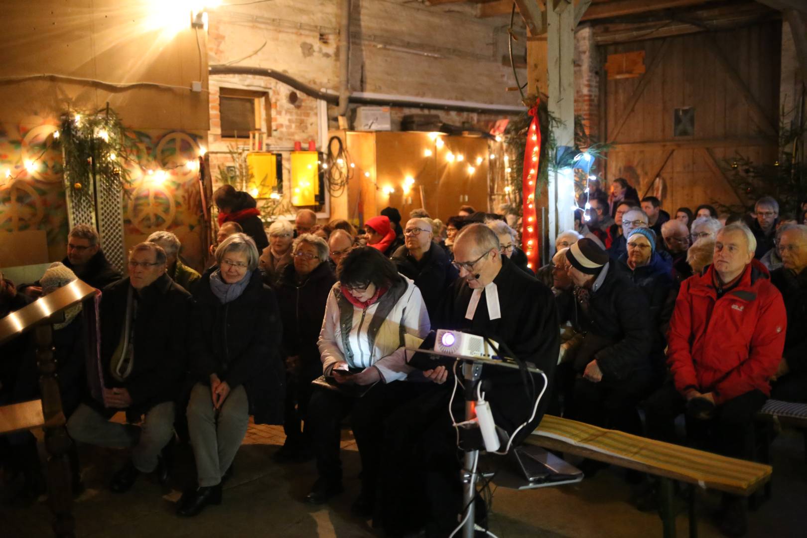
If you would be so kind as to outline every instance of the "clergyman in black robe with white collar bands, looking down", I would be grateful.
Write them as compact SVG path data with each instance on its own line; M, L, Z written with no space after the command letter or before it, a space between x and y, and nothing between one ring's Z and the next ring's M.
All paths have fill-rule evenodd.
M432 326L488 336L502 344L504 354L512 352L543 370L551 383L560 344L550 289L502 256L498 237L484 224L470 224L458 233L454 266L459 267L459 278L449 287ZM439 383L449 377L442 366L426 375ZM551 386L529 420L544 388L541 376L533 374L525 383L516 370L486 366L482 379L496 425L515 436L513 446L519 444L541 421ZM423 524L427 536L447 536L457 526L462 488L448 411L453 387L453 382L436 386L385 422L385 456L391 463L385 469L381 506L383 526L391 536ZM463 390L457 389L453 403L454 417L461 420Z

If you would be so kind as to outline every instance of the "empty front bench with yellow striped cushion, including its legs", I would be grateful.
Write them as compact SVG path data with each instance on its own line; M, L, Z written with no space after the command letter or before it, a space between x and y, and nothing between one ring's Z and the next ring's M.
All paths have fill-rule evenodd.
M748 497L770 480L772 472L771 465L719 456L552 415L545 415L533 435L524 442L659 477L665 538L675 536L674 481L690 486L689 536L694 537L697 536L696 486Z

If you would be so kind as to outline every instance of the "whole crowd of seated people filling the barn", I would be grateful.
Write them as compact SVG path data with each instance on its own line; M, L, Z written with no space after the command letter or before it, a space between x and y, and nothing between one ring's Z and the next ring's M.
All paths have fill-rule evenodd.
M304 500L326 503L343 490L349 415L362 461L353 512L390 536L448 536L462 511L449 396L462 389L448 366L416 368L403 349L437 328L484 332L547 374L551 397L524 429L533 400L521 373L486 386L516 443L547 410L681 443L674 424L684 413L687 442L750 457L747 433L767 398L807 401L807 226L780 219L773 198L724 225L712 206L673 217L624 180L610 196L592 186L590 218L559 234L550 263L533 271L508 219L470 206L445 224L415 210L403 225L388 207L362 234L302 210L266 233L242 194L216 193L220 227L201 274L180 259L178 237L159 231L128 253L123 277L81 225L40 281L0 277L0 315L75 278L102 290L100 394L86 386L81 308L54 343L69 435L131 451L112 491L143 473L168 480L169 450L185 440L197 478L178 515L222 503L252 415L284 428L275 462L314 461L319 478ZM24 336L3 345L14 360L2 363L0 403L36 397L31 345ZM111 420L119 411L123 423ZM30 434L3 439L0 457L23 491L42 491ZM653 506L654 484L633 478L647 482L639 507ZM725 497L721 515L726 535L745 532L737 498Z

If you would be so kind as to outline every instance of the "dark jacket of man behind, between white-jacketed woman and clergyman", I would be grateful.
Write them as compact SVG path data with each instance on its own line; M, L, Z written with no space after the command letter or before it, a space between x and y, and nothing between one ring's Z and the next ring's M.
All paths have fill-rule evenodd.
M437 307L442 302L445 290L457 280L459 273L451 265L449 256L434 241L429 246L420 261L417 261L409 254L406 245L399 247L392 256L392 261L398 268L398 272L415 282L415 286L420 289L423 302L426 303L426 310L429 311L429 318L437 313Z

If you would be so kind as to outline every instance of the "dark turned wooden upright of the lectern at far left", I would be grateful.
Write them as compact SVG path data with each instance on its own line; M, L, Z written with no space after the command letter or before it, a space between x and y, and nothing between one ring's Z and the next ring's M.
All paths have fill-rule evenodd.
M64 319L64 315L61 315ZM61 394L56 382L56 360L53 358L54 319L45 319L36 326L36 365L40 371L40 394L44 415L45 449L48 451L48 506L55 519L56 536L75 536L73 519L73 491L68 452L73 444L65 428L65 414L61 409Z

